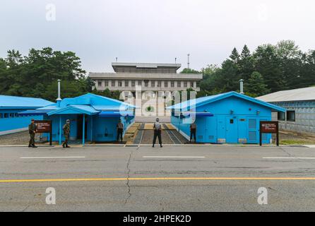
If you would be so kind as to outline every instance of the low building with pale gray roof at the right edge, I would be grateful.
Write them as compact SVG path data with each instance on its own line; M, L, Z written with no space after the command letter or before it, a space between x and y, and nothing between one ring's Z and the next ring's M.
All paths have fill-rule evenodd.
M273 120L279 120L280 129L315 133L315 86L283 90L257 99L287 109L286 113L273 113Z

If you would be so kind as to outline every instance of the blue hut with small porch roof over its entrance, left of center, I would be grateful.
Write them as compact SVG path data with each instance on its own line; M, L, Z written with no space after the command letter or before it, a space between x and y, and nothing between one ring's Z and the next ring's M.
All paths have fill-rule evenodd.
M125 133L134 122L135 108L119 100L88 93L22 114L38 114L44 120L52 120L52 141L59 143L64 141L62 126L70 119L70 141L79 140L84 144L86 141L116 141L119 119Z

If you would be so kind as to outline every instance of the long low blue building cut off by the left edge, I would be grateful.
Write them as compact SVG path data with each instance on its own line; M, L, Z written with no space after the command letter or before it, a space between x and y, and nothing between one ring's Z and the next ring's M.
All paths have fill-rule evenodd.
M42 119L39 115L23 116L18 114L19 112L51 104L53 102L40 98L0 95L0 135L27 129L32 118Z

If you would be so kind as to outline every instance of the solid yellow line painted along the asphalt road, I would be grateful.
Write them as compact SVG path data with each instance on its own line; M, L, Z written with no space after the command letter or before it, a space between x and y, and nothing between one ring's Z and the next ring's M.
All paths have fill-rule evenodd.
M168 181L168 180L315 180L315 177L134 177L134 178L69 178L69 179L0 179L0 183L21 182L104 182L104 181Z

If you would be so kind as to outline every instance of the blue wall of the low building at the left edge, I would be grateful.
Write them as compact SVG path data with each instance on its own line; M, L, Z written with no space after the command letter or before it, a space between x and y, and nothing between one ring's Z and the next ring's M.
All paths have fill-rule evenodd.
M13 129L23 129L28 127L31 119L42 119L42 116L38 115L20 116L17 114L18 112L23 112L25 110L26 109L0 109L0 132L10 131ZM4 118L4 114L8 114L8 118Z

